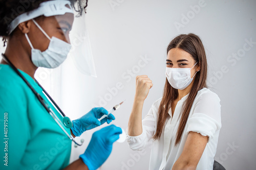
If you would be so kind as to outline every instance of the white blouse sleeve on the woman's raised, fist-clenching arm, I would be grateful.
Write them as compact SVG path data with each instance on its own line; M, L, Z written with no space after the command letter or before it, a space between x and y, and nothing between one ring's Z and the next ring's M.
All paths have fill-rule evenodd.
M157 112L161 101L162 98L155 101L151 106L151 109L142 120L142 134L138 136L129 136L128 131L126 130L127 142L132 150L143 150L146 147L148 141L153 138L156 130L156 118L158 117Z

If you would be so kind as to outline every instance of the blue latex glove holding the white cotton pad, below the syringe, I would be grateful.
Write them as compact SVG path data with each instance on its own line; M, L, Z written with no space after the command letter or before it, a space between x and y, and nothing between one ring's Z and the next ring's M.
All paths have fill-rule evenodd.
M94 132L86 152L80 155L89 170L97 169L108 159L113 143L119 139L119 134L121 133L122 129L115 125L110 125Z

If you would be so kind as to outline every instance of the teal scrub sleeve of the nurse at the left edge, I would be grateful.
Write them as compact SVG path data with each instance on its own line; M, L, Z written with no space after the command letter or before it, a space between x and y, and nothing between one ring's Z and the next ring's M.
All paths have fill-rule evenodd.
M20 86L18 77L8 65L0 64L0 129L3 129L1 138L7 138L1 142L1 155L7 155L2 167L19 169L27 142L30 138L29 119L26 112L26 99L24 99L23 86ZM5 131L4 131L5 129ZM6 133L4 133L6 132ZM10 163L11 162L11 163ZM15 162L15 163L14 163Z

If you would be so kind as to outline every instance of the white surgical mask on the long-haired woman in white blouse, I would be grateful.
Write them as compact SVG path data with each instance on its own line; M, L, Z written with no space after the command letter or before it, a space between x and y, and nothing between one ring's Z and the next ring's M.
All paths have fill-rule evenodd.
M193 76L193 78L191 78L190 70L193 67L191 67L191 68L169 68L169 67L166 67L165 76L173 88L184 90L193 81L193 78L197 74L197 72L196 72L195 75Z

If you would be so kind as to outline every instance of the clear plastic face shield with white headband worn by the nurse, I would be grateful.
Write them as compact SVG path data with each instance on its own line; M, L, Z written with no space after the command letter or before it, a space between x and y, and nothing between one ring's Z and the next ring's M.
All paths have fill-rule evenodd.
M79 9L82 10L79 12L77 9L76 3L73 4L71 1L67 0L55 0L41 3L39 8L16 17L9 25L8 34L11 34L19 23L32 19L38 28L38 32L42 32L45 38L38 39L37 42L34 43L31 40L31 43L29 43L32 49L36 48L38 43L47 40L50 40L49 47L52 45L51 43L58 43L58 52L62 53L68 50L68 57L72 58L73 64L78 71L84 75L97 77L91 44L86 30L85 12L83 8ZM34 19L38 16L47 17L50 24L42 26L39 21ZM71 44L71 48L65 43L54 40L53 37ZM27 39L30 41L29 34ZM55 51L55 53L57 52Z

